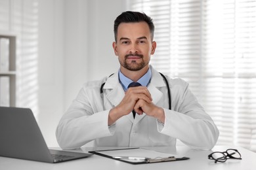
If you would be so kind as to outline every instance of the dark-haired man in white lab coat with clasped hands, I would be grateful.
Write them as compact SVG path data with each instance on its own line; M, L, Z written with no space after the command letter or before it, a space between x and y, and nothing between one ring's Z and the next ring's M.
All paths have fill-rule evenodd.
M219 131L188 83L168 76L165 82L149 64L156 50L152 19L123 12L114 22L114 34L120 69L83 85L56 129L60 147L74 149L90 141L95 146L175 146L180 139L192 148L213 148ZM141 86L128 88L131 82Z

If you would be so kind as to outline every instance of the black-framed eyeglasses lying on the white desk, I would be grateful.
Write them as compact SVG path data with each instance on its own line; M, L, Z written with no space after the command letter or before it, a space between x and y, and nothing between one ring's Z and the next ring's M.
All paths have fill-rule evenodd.
M242 160L241 154L236 149L228 149L226 152L213 152L208 155L208 159L215 160L215 163L217 161L224 162L227 159Z

